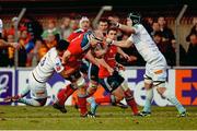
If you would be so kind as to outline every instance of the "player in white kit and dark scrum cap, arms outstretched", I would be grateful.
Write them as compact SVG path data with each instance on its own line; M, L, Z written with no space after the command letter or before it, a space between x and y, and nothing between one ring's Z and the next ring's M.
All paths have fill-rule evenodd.
M116 23L113 20L111 21L121 31L131 35L125 41L106 39L108 44L119 47L130 47L134 44L144 61L147 61L144 74L146 105L141 115L150 116L153 87L155 87L162 97L166 98L177 108L179 116L185 117L186 109L177 100L176 96L165 86L167 67L166 60L143 25L140 24L140 15L138 13L129 13L127 17L127 24L129 24L129 26Z

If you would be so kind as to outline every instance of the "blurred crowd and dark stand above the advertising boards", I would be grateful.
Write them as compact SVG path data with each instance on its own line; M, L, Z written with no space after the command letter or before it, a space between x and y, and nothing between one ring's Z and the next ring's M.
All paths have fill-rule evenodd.
M126 24L129 12L139 12L170 67L197 66L196 0L1 0L2 39L20 44L19 49L0 47L0 67L35 67L45 52L61 38L80 27L80 20L90 20L88 28L103 29L108 16ZM107 24L102 28L102 24ZM117 39L128 36L120 31ZM124 49L134 60L125 66L143 67L135 47ZM193 58L193 59L190 59Z

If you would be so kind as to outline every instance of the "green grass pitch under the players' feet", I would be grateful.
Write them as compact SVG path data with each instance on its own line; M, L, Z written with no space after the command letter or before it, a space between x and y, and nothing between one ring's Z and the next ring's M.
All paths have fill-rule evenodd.
M175 107L152 107L152 116L132 117L129 108L100 106L97 118L80 118L73 107L61 114L51 106L0 106L0 130L197 130L197 107L186 108L185 118Z

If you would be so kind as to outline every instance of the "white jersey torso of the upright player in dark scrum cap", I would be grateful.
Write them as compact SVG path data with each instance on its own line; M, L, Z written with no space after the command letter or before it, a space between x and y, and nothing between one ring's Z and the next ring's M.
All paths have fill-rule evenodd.
M163 55L160 52L155 43L147 32L147 29L141 24L136 24L136 33L132 34L129 38L134 41L137 50L147 62L152 60L163 59Z

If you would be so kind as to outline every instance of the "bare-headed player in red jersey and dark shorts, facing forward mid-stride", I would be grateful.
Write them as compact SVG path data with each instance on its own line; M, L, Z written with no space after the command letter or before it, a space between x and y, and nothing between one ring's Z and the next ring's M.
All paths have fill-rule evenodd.
M107 32L107 37L114 39L116 36L116 28L109 28ZM112 93L115 96L115 102L120 102L124 97L126 98L127 104L132 109L134 115L139 115L137 104L134 99L134 93L128 87L127 82L125 79L119 74L118 67L123 68L120 64L118 64L115 60L115 56L117 52L124 55L126 58L129 59L129 56L125 55L123 50L119 47L116 46L109 46L105 51L97 49L95 50L96 56L100 57L101 51L104 53L101 59L97 59L100 62L100 70L99 70L99 78L100 78L100 84L103 85L103 87ZM100 52L100 55L97 55ZM93 115L95 115L96 105L101 103L111 103L112 97L106 96L104 98L96 98L94 106L91 104L91 111Z

